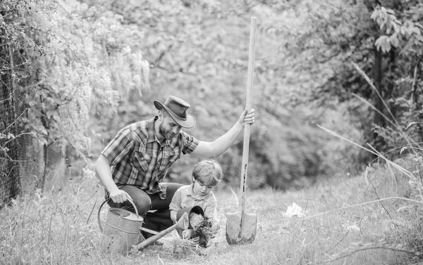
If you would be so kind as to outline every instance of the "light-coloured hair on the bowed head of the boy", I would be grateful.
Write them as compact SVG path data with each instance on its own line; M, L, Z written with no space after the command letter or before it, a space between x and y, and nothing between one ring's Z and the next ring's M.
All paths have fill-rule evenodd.
M223 176L220 164L214 160L202 160L192 169L192 177L205 186L216 186Z

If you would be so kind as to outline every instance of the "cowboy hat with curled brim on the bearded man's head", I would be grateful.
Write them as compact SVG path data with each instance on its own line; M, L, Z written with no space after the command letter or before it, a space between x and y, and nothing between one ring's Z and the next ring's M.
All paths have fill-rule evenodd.
M190 104L176 96L169 96L164 104L161 104L159 101L154 101L154 106L157 110L165 109L180 127L192 128L195 125L195 117L187 113Z

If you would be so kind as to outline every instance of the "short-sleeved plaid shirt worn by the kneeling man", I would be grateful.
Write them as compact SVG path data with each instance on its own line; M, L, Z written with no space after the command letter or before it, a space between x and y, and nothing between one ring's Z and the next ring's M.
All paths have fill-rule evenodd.
M154 131L156 119L157 116L121 129L102 155L111 162L112 177L118 187L133 185L149 194L162 193L161 197L166 198L166 188L159 183L180 154L191 153L199 141L180 131L171 140L159 143Z

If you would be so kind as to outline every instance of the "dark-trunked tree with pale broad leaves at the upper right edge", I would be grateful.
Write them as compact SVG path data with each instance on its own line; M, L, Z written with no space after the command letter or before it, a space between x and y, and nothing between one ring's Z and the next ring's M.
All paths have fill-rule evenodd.
M417 85L422 84L423 4L419 1L388 1L384 6L376 1L375 4L371 9L371 18L381 31L375 41L375 54L386 55L384 57L389 67L384 72L388 78L394 79L394 82L387 86L388 92L391 93L386 93L384 100L390 103L388 112L396 127L405 128L410 122L423 118L420 96L422 89L417 89ZM378 71L383 71L381 66ZM408 82L404 80L407 77ZM377 80L376 85L381 86ZM384 92L382 89L380 91ZM378 110L382 111L382 108ZM389 140L393 140L383 129L379 131ZM410 139L415 143L421 142L422 132L422 127L417 124L417 129L411 130Z

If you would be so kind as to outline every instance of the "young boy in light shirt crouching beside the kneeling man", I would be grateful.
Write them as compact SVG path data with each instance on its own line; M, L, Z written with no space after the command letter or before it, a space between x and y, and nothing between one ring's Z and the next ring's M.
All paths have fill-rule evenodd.
M178 210L198 205L204 210L204 216L212 221L216 232L219 229L219 224L216 221L216 197L214 197L212 190L219 184L222 175L220 164L214 160L202 160L195 164L194 169L192 169L191 185L178 188L169 205L173 223L177 221ZM192 238L193 234L192 228L180 233L183 238Z

